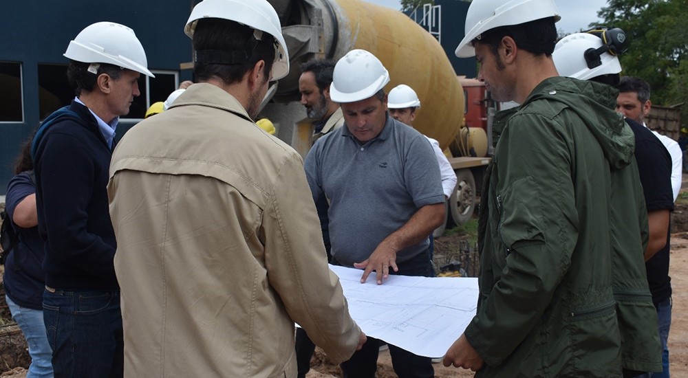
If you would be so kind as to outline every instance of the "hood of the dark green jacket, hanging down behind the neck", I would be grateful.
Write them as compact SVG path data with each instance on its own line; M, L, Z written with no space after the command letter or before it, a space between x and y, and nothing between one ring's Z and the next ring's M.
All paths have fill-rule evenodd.
M614 111L618 94L619 91L609 85L559 76L537 85L522 107L541 99L566 104L588 126L610 166L621 169L630 164L636 142L623 115Z

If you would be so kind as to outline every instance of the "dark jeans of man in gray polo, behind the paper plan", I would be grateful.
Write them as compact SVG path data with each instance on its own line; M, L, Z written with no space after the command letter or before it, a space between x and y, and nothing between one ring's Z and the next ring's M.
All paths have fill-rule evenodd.
M429 253L419 254L409 261L398 263L399 271L390 269L389 274L431 277L432 264L429 257ZM414 355L398 346L388 345L391 364L394 367L394 373L399 378L432 378L435 376L435 369L432 367L430 357ZM356 351L351 359L341 364L344 378L374 378L378 367L379 351L380 341L374 337L368 337L361 351Z

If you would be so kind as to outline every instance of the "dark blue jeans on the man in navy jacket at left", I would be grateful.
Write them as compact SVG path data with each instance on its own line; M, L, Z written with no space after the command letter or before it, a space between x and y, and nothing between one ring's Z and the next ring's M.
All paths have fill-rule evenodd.
M120 291L43 291L55 377L122 378Z

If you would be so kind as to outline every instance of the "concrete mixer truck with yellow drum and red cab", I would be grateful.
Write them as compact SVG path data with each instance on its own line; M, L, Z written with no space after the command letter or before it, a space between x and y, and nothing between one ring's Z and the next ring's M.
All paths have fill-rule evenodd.
M469 220L480 189L476 182L482 183L489 162L491 102L484 85L458 78L436 38L402 12L361 0L268 1L279 14L291 67L286 78L268 89L262 104L261 115L272 120L277 136L304 157L310 149L313 125L299 103L301 63L337 60L351 49L366 49L389 70L388 93L399 84L418 93L423 107L414 126L440 142L458 177L448 201L449 221ZM464 110L471 113L464 115Z

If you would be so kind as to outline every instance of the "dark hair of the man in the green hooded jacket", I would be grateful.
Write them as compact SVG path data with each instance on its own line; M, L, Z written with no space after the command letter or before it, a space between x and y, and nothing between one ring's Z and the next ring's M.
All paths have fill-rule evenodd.
M480 38L473 39L471 43L488 45L492 54L498 56L497 49L499 49L499 44L505 36L513 38L519 49L524 49L535 55L551 56L557 44L555 18L547 17L519 25L495 27L480 34ZM501 60L497 62L497 66L501 64Z

